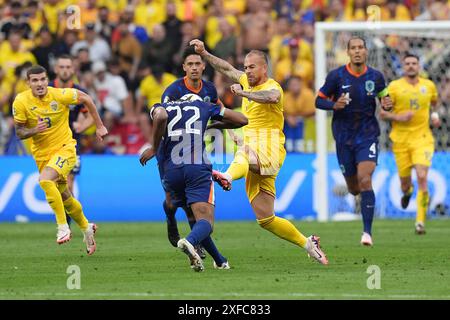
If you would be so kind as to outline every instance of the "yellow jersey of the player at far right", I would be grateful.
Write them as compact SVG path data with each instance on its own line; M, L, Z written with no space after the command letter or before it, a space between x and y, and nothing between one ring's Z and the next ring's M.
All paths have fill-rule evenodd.
M388 86L389 96L394 103L393 113L412 111L408 122L392 122L390 138L393 142L433 138L430 130L430 105L437 101L436 86L431 80L420 78L412 85L405 78L392 81Z

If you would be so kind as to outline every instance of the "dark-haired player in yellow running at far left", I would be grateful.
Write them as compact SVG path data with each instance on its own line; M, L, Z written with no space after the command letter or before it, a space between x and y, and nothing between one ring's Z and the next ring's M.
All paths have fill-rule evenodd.
M84 216L80 202L67 188L67 175L76 164L76 141L69 127L69 105L84 104L97 127L97 137L108 134L91 97L77 89L48 87L47 71L33 66L27 71L30 89L17 95L13 102L16 134L20 139L32 138L31 153L39 169L39 185L56 215L56 242L70 240L72 232L66 212L84 234L87 253L96 250L96 225Z

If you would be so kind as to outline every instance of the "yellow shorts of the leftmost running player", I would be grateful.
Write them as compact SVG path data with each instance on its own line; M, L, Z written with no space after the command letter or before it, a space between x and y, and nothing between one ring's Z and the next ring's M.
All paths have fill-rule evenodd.
M67 176L77 163L77 153L74 145L67 145L50 155L48 160L36 161L39 172L44 167L55 169L59 173L60 180L66 181Z

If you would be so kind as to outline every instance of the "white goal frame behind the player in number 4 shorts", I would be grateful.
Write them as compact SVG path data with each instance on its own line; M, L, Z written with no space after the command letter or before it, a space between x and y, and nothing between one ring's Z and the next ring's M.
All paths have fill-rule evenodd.
M446 31L446 32L443 32ZM415 34L423 34L427 37L446 37L447 46L450 47L450 21L410 21L410 22L318 22L315 24L315 91L324 84L327 73L334 67L330 66L327 53L333 54L337 48L327 44L329 35L338 37L341 33L368 35L377 38L377 34L400 35L405 38ZM366 37L366 40L370 40ZM383 37L381 37L383 39ZM420 41L420 40L417 40ZM379 41L380 42L380 41ZM344 42L342 42L343 44ZM422 44L421 44L422 45ZM425 44L427 46L428 44ZM375 43L376 46L376 43ZM430 49L431 50L431 49ZM370 55L370 48L369 48ZM380 55L381 56L381 55ZM381 57L381 63L389 57ZM385 60L383 60L385 59ZM380 61L378 61L380 62ZM372 64L368 63L372 66ZM376 65L374 66L377 67ZM443 70L445 71L445 70ZM387 80L387 79L386 79ZM328 114L326 111L316 111L316 176L313 183L314 208L318 221L330 219L329 208L329 173L328 173Z

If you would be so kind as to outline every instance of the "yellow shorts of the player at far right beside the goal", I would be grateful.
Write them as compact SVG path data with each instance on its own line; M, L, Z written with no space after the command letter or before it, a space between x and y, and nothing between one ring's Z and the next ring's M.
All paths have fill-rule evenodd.
M401 178L411 176L411 168L420 164L430 167L434 153L434 141L408 141L395 143L392 146L398 174Z

